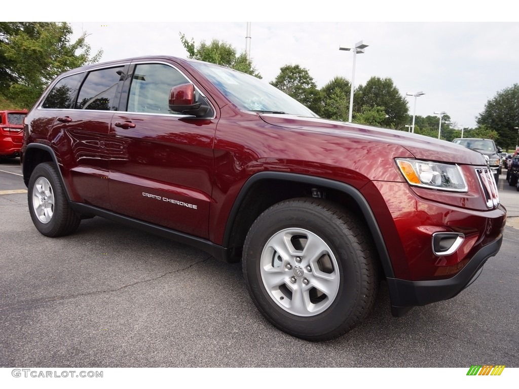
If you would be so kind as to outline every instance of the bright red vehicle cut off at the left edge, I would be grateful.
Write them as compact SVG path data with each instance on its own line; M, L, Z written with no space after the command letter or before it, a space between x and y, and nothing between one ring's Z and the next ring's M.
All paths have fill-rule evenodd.
M23 140L23 119L26 110L0 111L0 158L19 157Z

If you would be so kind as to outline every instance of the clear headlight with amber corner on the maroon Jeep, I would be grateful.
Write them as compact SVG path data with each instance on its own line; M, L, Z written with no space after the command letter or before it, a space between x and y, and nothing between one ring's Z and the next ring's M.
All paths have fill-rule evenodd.
M458 165L397 158L397 165L410 185L466 192L467 183Z

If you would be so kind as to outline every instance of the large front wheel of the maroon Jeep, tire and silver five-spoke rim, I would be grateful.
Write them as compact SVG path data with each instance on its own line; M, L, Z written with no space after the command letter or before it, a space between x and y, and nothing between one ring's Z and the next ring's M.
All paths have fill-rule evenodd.
M282 331L333 339L374 305L379 275L372 247L370 234L346 210L321 199L286 200L263 212L247 234L245 284L258 310Z

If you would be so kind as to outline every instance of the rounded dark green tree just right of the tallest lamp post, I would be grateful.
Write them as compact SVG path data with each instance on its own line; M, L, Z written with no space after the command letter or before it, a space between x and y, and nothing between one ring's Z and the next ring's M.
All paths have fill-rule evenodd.
M365 106L384 108L387 116L380 123L384 127L401 129L407 124L407 100L389 77L371 77L366 85L359 85L354 92L353 103L353 112L361 112L359 107Z

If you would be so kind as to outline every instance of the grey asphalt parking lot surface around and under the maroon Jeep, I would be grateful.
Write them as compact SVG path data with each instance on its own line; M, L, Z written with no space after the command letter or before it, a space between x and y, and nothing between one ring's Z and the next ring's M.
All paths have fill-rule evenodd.
M509 225L473 285L394 318L383 284L366 321L311 343L257 312L240 264L101 218L44 237L19 174L0 164L0 367L519 367L519 193L504 175Z

